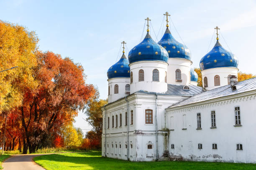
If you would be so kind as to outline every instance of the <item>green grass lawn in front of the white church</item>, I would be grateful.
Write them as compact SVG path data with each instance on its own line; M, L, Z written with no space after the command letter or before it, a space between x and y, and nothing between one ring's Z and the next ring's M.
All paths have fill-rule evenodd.
M256 164L205 162L129 162L101 157L100 151L42 155L35 162L46 170L256 170Z

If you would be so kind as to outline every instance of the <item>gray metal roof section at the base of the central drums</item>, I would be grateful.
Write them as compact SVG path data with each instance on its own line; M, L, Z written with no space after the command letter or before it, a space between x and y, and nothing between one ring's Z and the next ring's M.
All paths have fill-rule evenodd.
M189 90L184 90L184 85L167 85L167 92L165 93L157 93L157 95L174 95L174 96L193 96L200 92L203 92L202 87L196 85L188 85ZM143 94L156 94L155 92L148 92L148 91L137 91L136 93L143 93Z

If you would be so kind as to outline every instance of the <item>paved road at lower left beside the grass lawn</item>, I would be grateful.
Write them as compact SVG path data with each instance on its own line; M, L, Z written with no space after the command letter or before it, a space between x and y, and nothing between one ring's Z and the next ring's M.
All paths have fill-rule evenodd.
M33 161L34 157L40 155L46 154L12 155L4 161L3 170L45 170Z

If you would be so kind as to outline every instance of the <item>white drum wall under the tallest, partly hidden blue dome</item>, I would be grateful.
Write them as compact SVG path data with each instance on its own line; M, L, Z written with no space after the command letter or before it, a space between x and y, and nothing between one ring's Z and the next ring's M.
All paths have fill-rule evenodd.
M190 82L190 65L192 62L184 58L169 58L167 67L167 83L188 85ZM176 82L175 71L179 69L182 73L182 82Z

